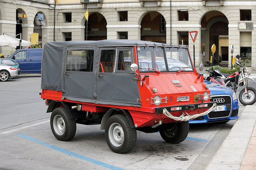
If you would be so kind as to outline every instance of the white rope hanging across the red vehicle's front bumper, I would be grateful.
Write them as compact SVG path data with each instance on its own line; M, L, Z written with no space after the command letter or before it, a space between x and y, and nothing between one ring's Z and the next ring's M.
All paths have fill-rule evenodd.
M190 119L194 119L194 118L199 117L199 116L207 115L208 113L213 111L216 108L216 106L217 106L217 104L214 103L212 105L212 107L210 109L206 110L205 112L194 114L194 115L191 115L191 116L188 113L186 113L187 115L184 116L185 111L183 111L182 115L180 115L179 117L176 117L176 116L173 116L166 108L163 109L163 114L166 115L167 117L169 117L170 119L174 119L176 121L188 121Z

